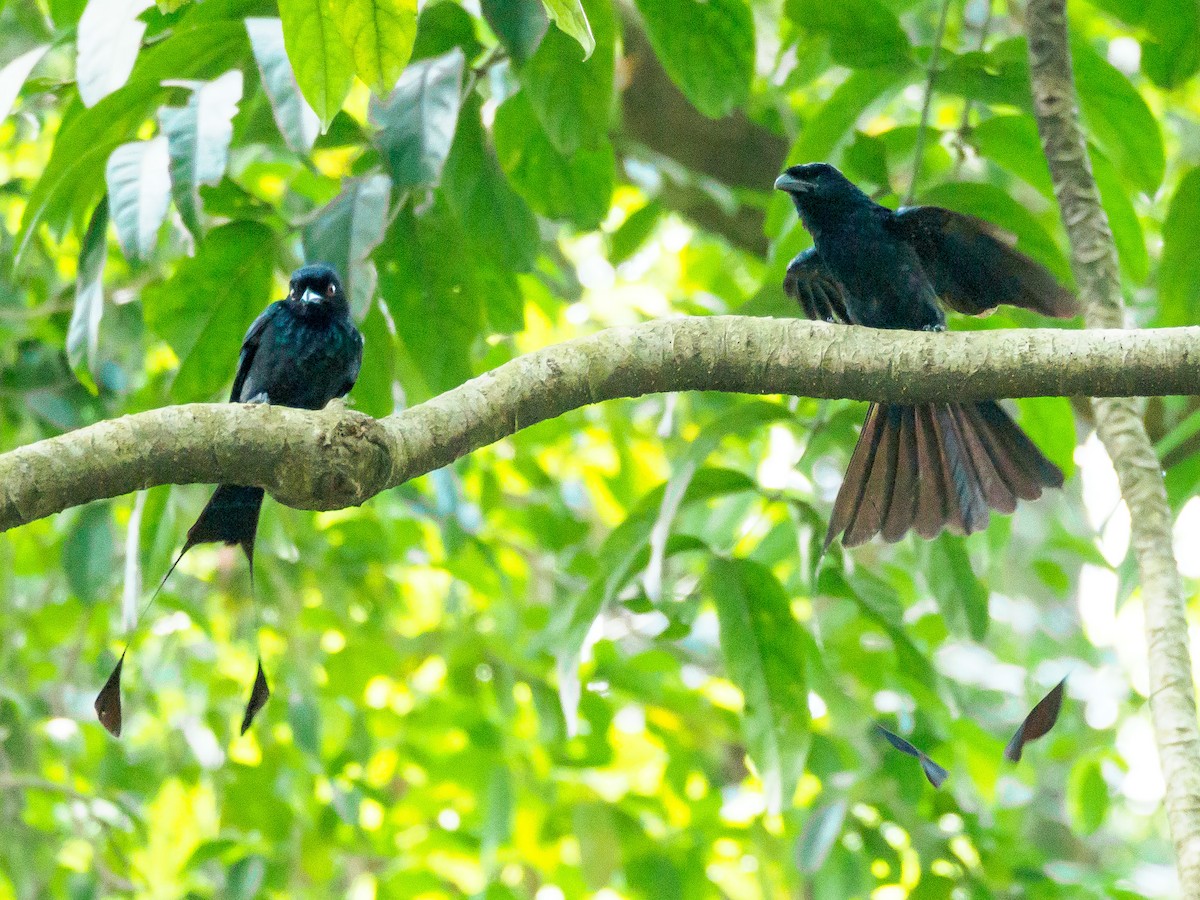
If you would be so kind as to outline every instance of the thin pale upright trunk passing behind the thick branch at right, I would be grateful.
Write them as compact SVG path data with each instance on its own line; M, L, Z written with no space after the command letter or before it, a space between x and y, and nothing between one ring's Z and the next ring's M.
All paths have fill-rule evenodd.
M1026 28L1038 130L1070 238L1072 265L1087 326L1121 328L1124 302L1116 245L1079 125L1066 0L1031 0ZM1133 522L1150 643L1150 706L1166 781L1166 817L1180 884L1184 898L1200 900L1200 727L1183 584L1171 550L1171 509L1162 467L1136 404L1117 398L1092 403L1097 430L1121 479Z

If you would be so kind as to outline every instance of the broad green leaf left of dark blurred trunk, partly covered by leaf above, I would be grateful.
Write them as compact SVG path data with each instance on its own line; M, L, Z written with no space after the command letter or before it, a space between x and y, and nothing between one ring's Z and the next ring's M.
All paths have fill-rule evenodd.
M496 112L496 154L512 186L536 212L595 228L608 214L617 160L612 144L564 156L541 130L523 92Z

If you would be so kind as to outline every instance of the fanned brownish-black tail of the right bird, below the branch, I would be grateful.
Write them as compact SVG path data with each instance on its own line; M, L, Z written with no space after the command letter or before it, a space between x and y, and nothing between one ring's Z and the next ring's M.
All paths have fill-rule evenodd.
M826 532L826 550L842 534L853 547L910 529L932 538L943 528L971 534L989 510L1012 512L1043 487L1062 487L1062 472L994 401L872 403L850 458Z

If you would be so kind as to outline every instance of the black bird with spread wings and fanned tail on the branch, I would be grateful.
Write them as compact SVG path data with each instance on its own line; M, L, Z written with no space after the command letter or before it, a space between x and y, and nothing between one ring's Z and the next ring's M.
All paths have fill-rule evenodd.
M998 229L938 206L892 211L833 166L793 166L775 181L814 246L787 266L784 289L811 319L868 328L942 331L946 313L978 316L1000 304L1044 316L1079 313L1074 295ZM824 546L845 532L847 547L916 528L932 538L970 534L989 508L1012 512L1062 472L994 401L872 403L838 499Z

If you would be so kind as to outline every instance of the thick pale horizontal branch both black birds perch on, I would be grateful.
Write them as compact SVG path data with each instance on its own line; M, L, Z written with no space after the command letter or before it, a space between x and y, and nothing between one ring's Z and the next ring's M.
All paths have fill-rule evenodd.
M588 403L679 390L898 402L1190 394L1200 328L922 334L737 316L616 328L371 419L240 403L167 407L0 455L0 530L156 485L260 485L340 509Z

